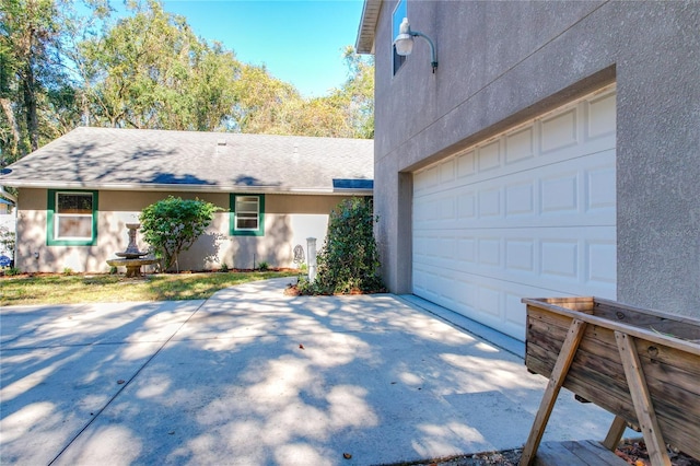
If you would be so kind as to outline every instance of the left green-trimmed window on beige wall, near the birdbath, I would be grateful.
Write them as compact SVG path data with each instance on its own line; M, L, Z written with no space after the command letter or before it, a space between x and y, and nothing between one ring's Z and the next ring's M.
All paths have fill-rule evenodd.
M94 246L97 191L48 190L47 245Z

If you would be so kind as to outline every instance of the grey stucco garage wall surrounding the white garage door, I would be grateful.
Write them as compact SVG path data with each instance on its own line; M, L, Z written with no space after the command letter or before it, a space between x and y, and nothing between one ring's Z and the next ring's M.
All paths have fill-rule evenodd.
M375 210L384 275L411 290L411 175L617 83L618 300L700 315L700 4L408 0L428 44L394 75L375 30Z

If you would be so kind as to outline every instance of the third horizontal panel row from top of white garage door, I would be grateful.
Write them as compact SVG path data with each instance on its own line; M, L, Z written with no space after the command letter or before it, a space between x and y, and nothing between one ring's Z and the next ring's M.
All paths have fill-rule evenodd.
M494 229L416 236L415 265L615 298L615 228ZM415 282L417 279L415 277Z

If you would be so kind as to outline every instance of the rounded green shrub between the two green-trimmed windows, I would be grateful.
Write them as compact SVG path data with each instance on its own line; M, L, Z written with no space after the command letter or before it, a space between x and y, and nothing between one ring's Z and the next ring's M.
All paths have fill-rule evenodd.
M171 269L177 255L190 248L219 210L211 202L173 196L143 209L139 217L141 233L162 259L163 270Z

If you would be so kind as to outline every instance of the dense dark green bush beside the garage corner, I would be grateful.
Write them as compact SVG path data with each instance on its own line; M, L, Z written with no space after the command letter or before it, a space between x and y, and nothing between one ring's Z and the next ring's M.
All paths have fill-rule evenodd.
M300 290L305 294L383 291L373 232L376 221L369 198L340 202L330 213L326 244L316 258L316 279L300 280Z

